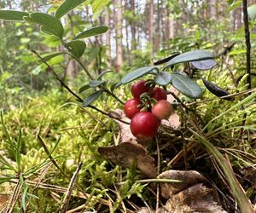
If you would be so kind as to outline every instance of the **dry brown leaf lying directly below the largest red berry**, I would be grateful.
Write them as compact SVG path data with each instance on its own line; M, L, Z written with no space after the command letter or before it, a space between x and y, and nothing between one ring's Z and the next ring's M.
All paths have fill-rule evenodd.
M148 155L142 145L136 141L122 142L118 146L99 147L98 152L110 159L114 164L130 167L136 162L137 168L145 176L155 177L154 158Z

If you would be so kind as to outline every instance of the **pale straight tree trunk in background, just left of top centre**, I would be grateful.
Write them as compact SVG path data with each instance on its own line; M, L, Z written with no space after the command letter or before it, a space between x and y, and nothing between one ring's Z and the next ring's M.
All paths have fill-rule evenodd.
M115 70L120 72L123 64L123 49L122 49L122 1L116 0L117 13L116 13L116 62Z

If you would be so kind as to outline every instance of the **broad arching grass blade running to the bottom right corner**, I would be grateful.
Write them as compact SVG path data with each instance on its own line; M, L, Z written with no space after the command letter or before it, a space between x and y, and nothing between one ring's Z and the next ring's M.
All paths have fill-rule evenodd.
M256 93L254 94L256 95ZM219 166L224 172L225 177L229 181L229 185L231 188L231 193L233 194L236 202L241 210L241 213L253 213L253 205L250 203L249 199L247 199L246 194L244 193L243 188L240 183L237 181L234 171L230 166L229 162L226 158L218 151L216 147L212 145L207 139L201 135L199 135L194 130L189 129L193 135L195 135L196 139L198 139L201 144L207 148L208 152L212 154L213 158L216 159Z

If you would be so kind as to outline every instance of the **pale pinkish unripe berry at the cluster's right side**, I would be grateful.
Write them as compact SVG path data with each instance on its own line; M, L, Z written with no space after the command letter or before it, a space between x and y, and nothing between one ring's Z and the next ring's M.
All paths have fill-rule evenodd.
M172 105L169 101L160 100L152 107L151 112L156 118L167 119L172 114Z

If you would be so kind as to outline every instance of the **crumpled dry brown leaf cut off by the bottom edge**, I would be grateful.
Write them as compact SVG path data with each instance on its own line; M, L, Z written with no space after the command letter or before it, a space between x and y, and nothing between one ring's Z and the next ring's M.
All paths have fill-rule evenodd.
M183 212L207 212L226 213L218 204L218 194L215 189L203 186L202 183L195 184L168 199L161 213L183 213Z

